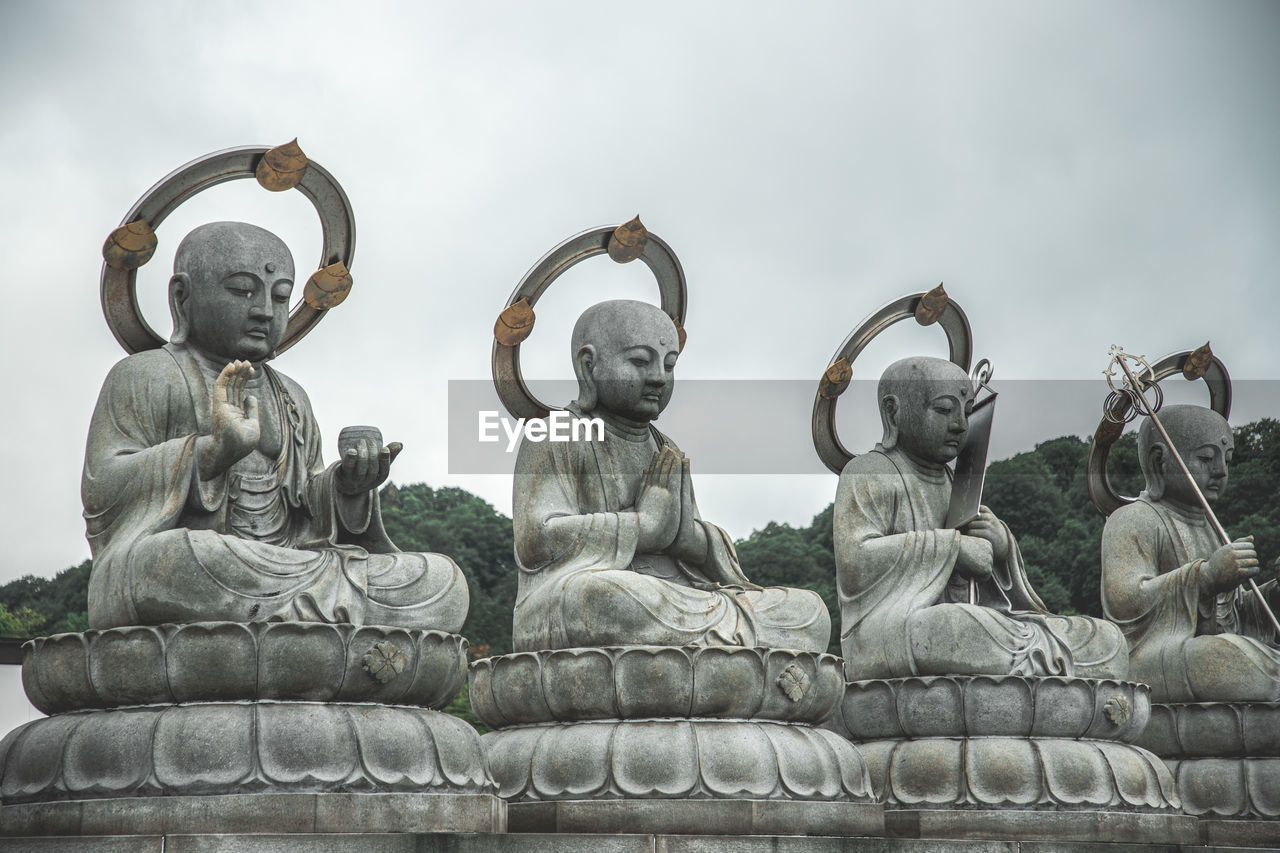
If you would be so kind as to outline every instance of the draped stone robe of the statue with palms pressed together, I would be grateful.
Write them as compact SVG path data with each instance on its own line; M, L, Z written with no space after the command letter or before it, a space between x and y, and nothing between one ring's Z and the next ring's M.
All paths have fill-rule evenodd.
M826 651L831 616L808 589L760 588L733 542L703 521L700 566L637 553L644 467L671 439L655 429L603 441L522 439L516 457L520 579L516 651L602 646L760 646ZM672 444L673 446L673 444Z

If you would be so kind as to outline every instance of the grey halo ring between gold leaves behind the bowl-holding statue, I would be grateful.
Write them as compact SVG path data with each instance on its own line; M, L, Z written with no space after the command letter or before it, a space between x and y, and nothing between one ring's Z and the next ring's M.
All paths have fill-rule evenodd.
M270 149L255 145L227 149L206 154L179 167L159 183L146 191L120 220L122 225L138 219L146 219L156 229L165 216L178 209L192 196L215 187L219 183L255 177L257 161ZM351 213L351 202L342 186L319 163L307 163L306 173L297 188L315 206L320 215L320 229L324 247L317 269L342 261L351 269L356 252L356 220ZM156 334L142 318L138 309L137 270L122 270L102 264L101 286L102 314L111 334L128 353L142 352L164 346L164 338ZM320 321L326 311L316 310L298 301L289 314L284 329L284 341L275 348L279 355L301 341Z

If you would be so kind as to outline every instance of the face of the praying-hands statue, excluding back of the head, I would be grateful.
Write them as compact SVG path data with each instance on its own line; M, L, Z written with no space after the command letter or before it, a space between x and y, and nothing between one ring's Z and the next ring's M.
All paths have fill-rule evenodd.
M637 309L593 337L591 379L598 405L643 423L662 414L671 402L680 357L671 318L657 309Z

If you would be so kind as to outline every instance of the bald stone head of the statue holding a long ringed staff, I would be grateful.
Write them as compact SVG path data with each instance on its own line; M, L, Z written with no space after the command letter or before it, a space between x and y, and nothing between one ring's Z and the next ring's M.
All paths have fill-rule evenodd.
M1228 465L1235 450L1230 424L1204 406L1165 406L1157 416L1204 500L1217 501L1226 489ZM1147 478L1148 496L1199 507L1196 491L1151 418L1143 419L1138 428L1138 461Z

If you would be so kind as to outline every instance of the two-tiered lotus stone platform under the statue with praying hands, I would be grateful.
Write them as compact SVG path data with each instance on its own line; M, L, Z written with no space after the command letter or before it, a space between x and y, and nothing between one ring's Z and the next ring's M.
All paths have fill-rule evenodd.
M470 695L516 829L877 834L861 756L817 726L842 689L831 654L618 647L476 661Z

